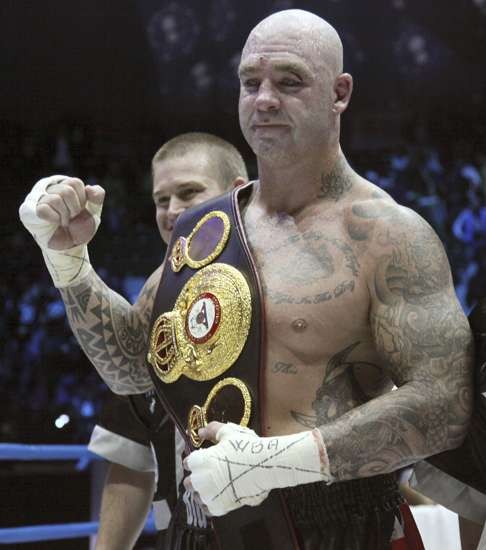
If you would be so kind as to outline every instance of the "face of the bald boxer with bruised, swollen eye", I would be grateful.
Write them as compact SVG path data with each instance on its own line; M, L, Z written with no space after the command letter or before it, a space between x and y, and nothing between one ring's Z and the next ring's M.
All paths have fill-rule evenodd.
M331 140L334 78L296 31L251 40L240 64L242 132L260 159L294 162Z

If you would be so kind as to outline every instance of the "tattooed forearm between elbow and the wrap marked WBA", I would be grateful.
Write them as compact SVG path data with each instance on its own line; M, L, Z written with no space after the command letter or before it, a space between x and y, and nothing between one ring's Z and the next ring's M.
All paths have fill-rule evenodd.
M466 392L405 384L319 427L336 480L394 472L458 446L467 430Z

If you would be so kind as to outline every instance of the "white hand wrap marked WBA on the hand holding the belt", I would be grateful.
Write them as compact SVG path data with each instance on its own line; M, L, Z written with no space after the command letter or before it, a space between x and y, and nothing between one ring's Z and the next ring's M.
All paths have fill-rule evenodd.
M259 437L229 423L217 438L217 445L194 451L187 459L192 486L214 516L245 504L258 506L272 489L331 482L325 448L320 449L311 431Z

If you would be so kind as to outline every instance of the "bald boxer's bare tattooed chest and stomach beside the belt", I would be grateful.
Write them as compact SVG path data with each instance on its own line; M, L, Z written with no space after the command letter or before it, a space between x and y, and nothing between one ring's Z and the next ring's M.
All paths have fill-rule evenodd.
M357 406L382 383L365 246L335 220L305 230L262 224L248 235L266 313L266 429L291 433Z

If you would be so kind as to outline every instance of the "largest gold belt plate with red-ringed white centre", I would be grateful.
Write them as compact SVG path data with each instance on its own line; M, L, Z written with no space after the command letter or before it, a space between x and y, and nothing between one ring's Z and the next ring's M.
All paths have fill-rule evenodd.
M155 321L147 360L165 383L182 374L211 380L236 361L251 322L251 294L234 267L215 263L193 275L174 309Z

